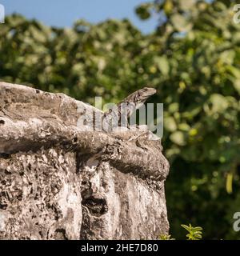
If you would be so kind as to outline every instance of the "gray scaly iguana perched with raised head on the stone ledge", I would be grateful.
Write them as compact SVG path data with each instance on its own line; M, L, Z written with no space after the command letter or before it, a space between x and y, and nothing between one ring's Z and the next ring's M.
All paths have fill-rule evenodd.
M102 129L106 132L122 124L128 126L127 119L133 114L134 110L139 109L151 95L155 94L154 88L144 87L141 90L130 94L122 102L119 102L115 109L109 110L102 116Z

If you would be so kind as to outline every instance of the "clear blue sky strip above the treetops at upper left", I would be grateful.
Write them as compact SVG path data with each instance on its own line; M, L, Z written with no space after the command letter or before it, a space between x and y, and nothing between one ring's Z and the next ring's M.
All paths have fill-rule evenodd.
M129 18L140 30L154 30L157 18L141 21L134 7L145 0L0 0L6 14L14 12L26 18L37 18L50 26L71 26L78 18L89 22L102 22L107 18Z

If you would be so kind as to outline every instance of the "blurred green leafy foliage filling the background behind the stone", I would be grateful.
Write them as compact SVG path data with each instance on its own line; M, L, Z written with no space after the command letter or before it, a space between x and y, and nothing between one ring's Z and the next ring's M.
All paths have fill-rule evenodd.
M170 233L183 238L181 220L205 226L205 238L238 238L232 232L240 189L236 3L143 3L140 17L160 17L148 35L127 20L55 28L14 14L0 24L0 79L90 103L96 95L118 102L143 86L156 88L151 100L164 103L162 144L171 166Z

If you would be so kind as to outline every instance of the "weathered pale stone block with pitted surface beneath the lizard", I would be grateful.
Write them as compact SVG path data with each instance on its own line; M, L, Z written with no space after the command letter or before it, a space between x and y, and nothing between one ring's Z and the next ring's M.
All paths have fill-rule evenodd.
M94 109L0 82L0 238L155 239L167 234L160 140L77 126Z

